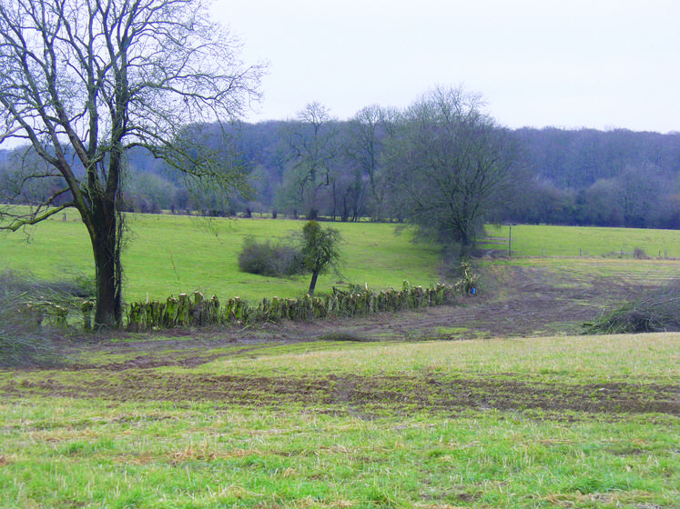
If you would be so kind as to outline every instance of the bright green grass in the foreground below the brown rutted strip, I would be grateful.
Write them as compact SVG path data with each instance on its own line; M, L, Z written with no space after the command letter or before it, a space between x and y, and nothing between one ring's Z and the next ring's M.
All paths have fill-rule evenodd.
M679 494L671 419L631 417L614 434L494 412L365 421L54 403L47 422L15 417L28 422L3 456L7 509L673 507Z

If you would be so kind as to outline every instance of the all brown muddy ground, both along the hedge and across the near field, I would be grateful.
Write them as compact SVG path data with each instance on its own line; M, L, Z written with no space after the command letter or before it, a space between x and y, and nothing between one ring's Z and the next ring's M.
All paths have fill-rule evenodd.
M103 397L116 401L212 401L215 404L303 404L334 413L372 416L385 410L414 409L460 412L500 409L539 410L553 418L582 414L668 414L680 416L679 384L545 384L496 374L475 378L415 376L235 377L226 374L159 373L164 365L195 366L219 356L213 349L238 345L244 354L271 343L336 341L466 340L485 337L578 334L582 324L604 308L634 298L643 291L621 278L549 271L534 267L504 267L483 274L475 297L457 306L442 306L403 314L379 314L356 320L327 320L313 324L280 323L259 327L201 331L175 330L165 339L123 334L125 341L100 336L96 343L65 345L65 354L86 347L106 354L126 354L127 360L97 364L69 364L65 370L88 370L83 384L65 384L58 377L32 382L14 380L0 386L0 394L40 394L66 397ZM120 334L119 334L120 335ZM121 339L121 338L115 338ZM570 416L571 415L571 416Z

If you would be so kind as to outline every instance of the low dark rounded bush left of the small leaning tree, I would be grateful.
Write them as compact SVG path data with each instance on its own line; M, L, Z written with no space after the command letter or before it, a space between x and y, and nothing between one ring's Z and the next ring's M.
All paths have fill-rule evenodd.
M271 244L246 237L239 254L239 269L249 274L282 277L301 274L299 249L282 241Z

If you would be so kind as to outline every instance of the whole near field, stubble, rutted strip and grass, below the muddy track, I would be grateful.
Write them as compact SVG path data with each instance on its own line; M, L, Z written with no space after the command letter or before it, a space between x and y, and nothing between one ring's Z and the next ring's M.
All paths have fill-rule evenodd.
M0 506L671 509L678 414L607 405L614 389L644 404L662 387L672 405L679 352L680 334L241 344L195 369L115 371L97 357L98 369L4 371ZM251 385L197 399L180 381ZM466 407L409 403L466 381ZM496 384L589 410L502 408ZM90 395L66 395L76 387Z

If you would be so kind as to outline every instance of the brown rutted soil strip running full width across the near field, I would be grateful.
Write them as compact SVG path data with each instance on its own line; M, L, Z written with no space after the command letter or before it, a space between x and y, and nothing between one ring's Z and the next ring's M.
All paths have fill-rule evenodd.
M300 404L333 412L371 415L389 410L538 409L597 414L671 414L680 416L680 385L602 383L546 384L513 374L441 378L434 374L399 376L231 376L167 374L133 369L126 374L98 370L88 382L55 379L11 382L8 396L26 394L99 397L111 401L210 401L249 406Z

